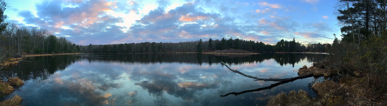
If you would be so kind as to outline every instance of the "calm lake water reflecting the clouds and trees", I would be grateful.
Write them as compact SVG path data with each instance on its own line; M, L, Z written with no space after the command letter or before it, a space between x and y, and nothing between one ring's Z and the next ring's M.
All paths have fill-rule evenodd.
M19 77L25 84L15 94L25 106L259 106L291 90L316 94L305 78L267 88L274 81L253 81L234 70L259 78L296 77L303 65L321 54L264 53L215 56L197 53L82 54L24 58L0 71L0 78ZM263 89L266 87L265 89ZM260 89L259 89L260 88ZM239 94L251 89L261 91Z

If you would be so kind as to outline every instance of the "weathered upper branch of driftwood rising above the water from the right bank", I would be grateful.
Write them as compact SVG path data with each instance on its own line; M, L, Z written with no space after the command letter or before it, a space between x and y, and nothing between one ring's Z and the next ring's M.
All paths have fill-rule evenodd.
M301 75L301 76L298 76L298 77L292 77L292 78L258 78L258 77L255 77L255 76L247 75L247 74L242 73L242 72L240 72L238 70L233 70L229 66L227 66L225 63L223 63L223 61L221 61L221 63L223 65L225 65L229 70L233 71L234 73L238 73L238 74L246 76L248 78L253 78L255 81L287 81L287 80L297 79L297 78L300 79L300 78L305 77L305 76L313 75L313 73L314 73L314 72L312 72L312 73L308 73L308 74L305 74L305 75Z

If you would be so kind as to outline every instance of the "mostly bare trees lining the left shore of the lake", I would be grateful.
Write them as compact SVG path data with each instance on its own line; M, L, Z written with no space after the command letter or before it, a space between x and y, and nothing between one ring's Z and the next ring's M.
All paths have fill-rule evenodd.
M58 37L39 27L18 26L6 22L0 45L15 54L77 53L75 45L65 37Z

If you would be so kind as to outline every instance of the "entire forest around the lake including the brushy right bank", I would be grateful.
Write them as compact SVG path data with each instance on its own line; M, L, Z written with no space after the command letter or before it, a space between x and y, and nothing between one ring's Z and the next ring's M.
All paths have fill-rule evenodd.
M0 1L0 63L15 54L183 53L226 49L255 53L325 52L330 55L318 63L319 67L339 70L342 72L340 75L342 79L339 81L342 85L339 88L348 85L351 87L319 98L326 100L322 100L321 104L341 106L345 103L359 106L387 103L386 0L337 0L334 14L337 16L338 25L341 26L342 37L339 39L334 34L332 43L302 44L293 38L280 40L276 44L265 44L230 37L179 43L142 42L108 45L77 45L63 36L55 36L46 29L6 22L7 15L3 13L7 4Z

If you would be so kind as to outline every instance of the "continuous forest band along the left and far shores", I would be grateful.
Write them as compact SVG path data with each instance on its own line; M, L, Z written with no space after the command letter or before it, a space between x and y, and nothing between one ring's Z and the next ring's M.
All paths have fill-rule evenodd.
M4 22L1 34L2 53L9 54L53 54L53 53L182 53L208 52L214 50L237 49L251 52L325 52L329 43L308 43L293 40L281 40L274 45L240 38L222 38L221 40L185 41L179 43L125 43L109 45L76 45L65 37L55 36L50 31L39 27L18 26L13 22Z

